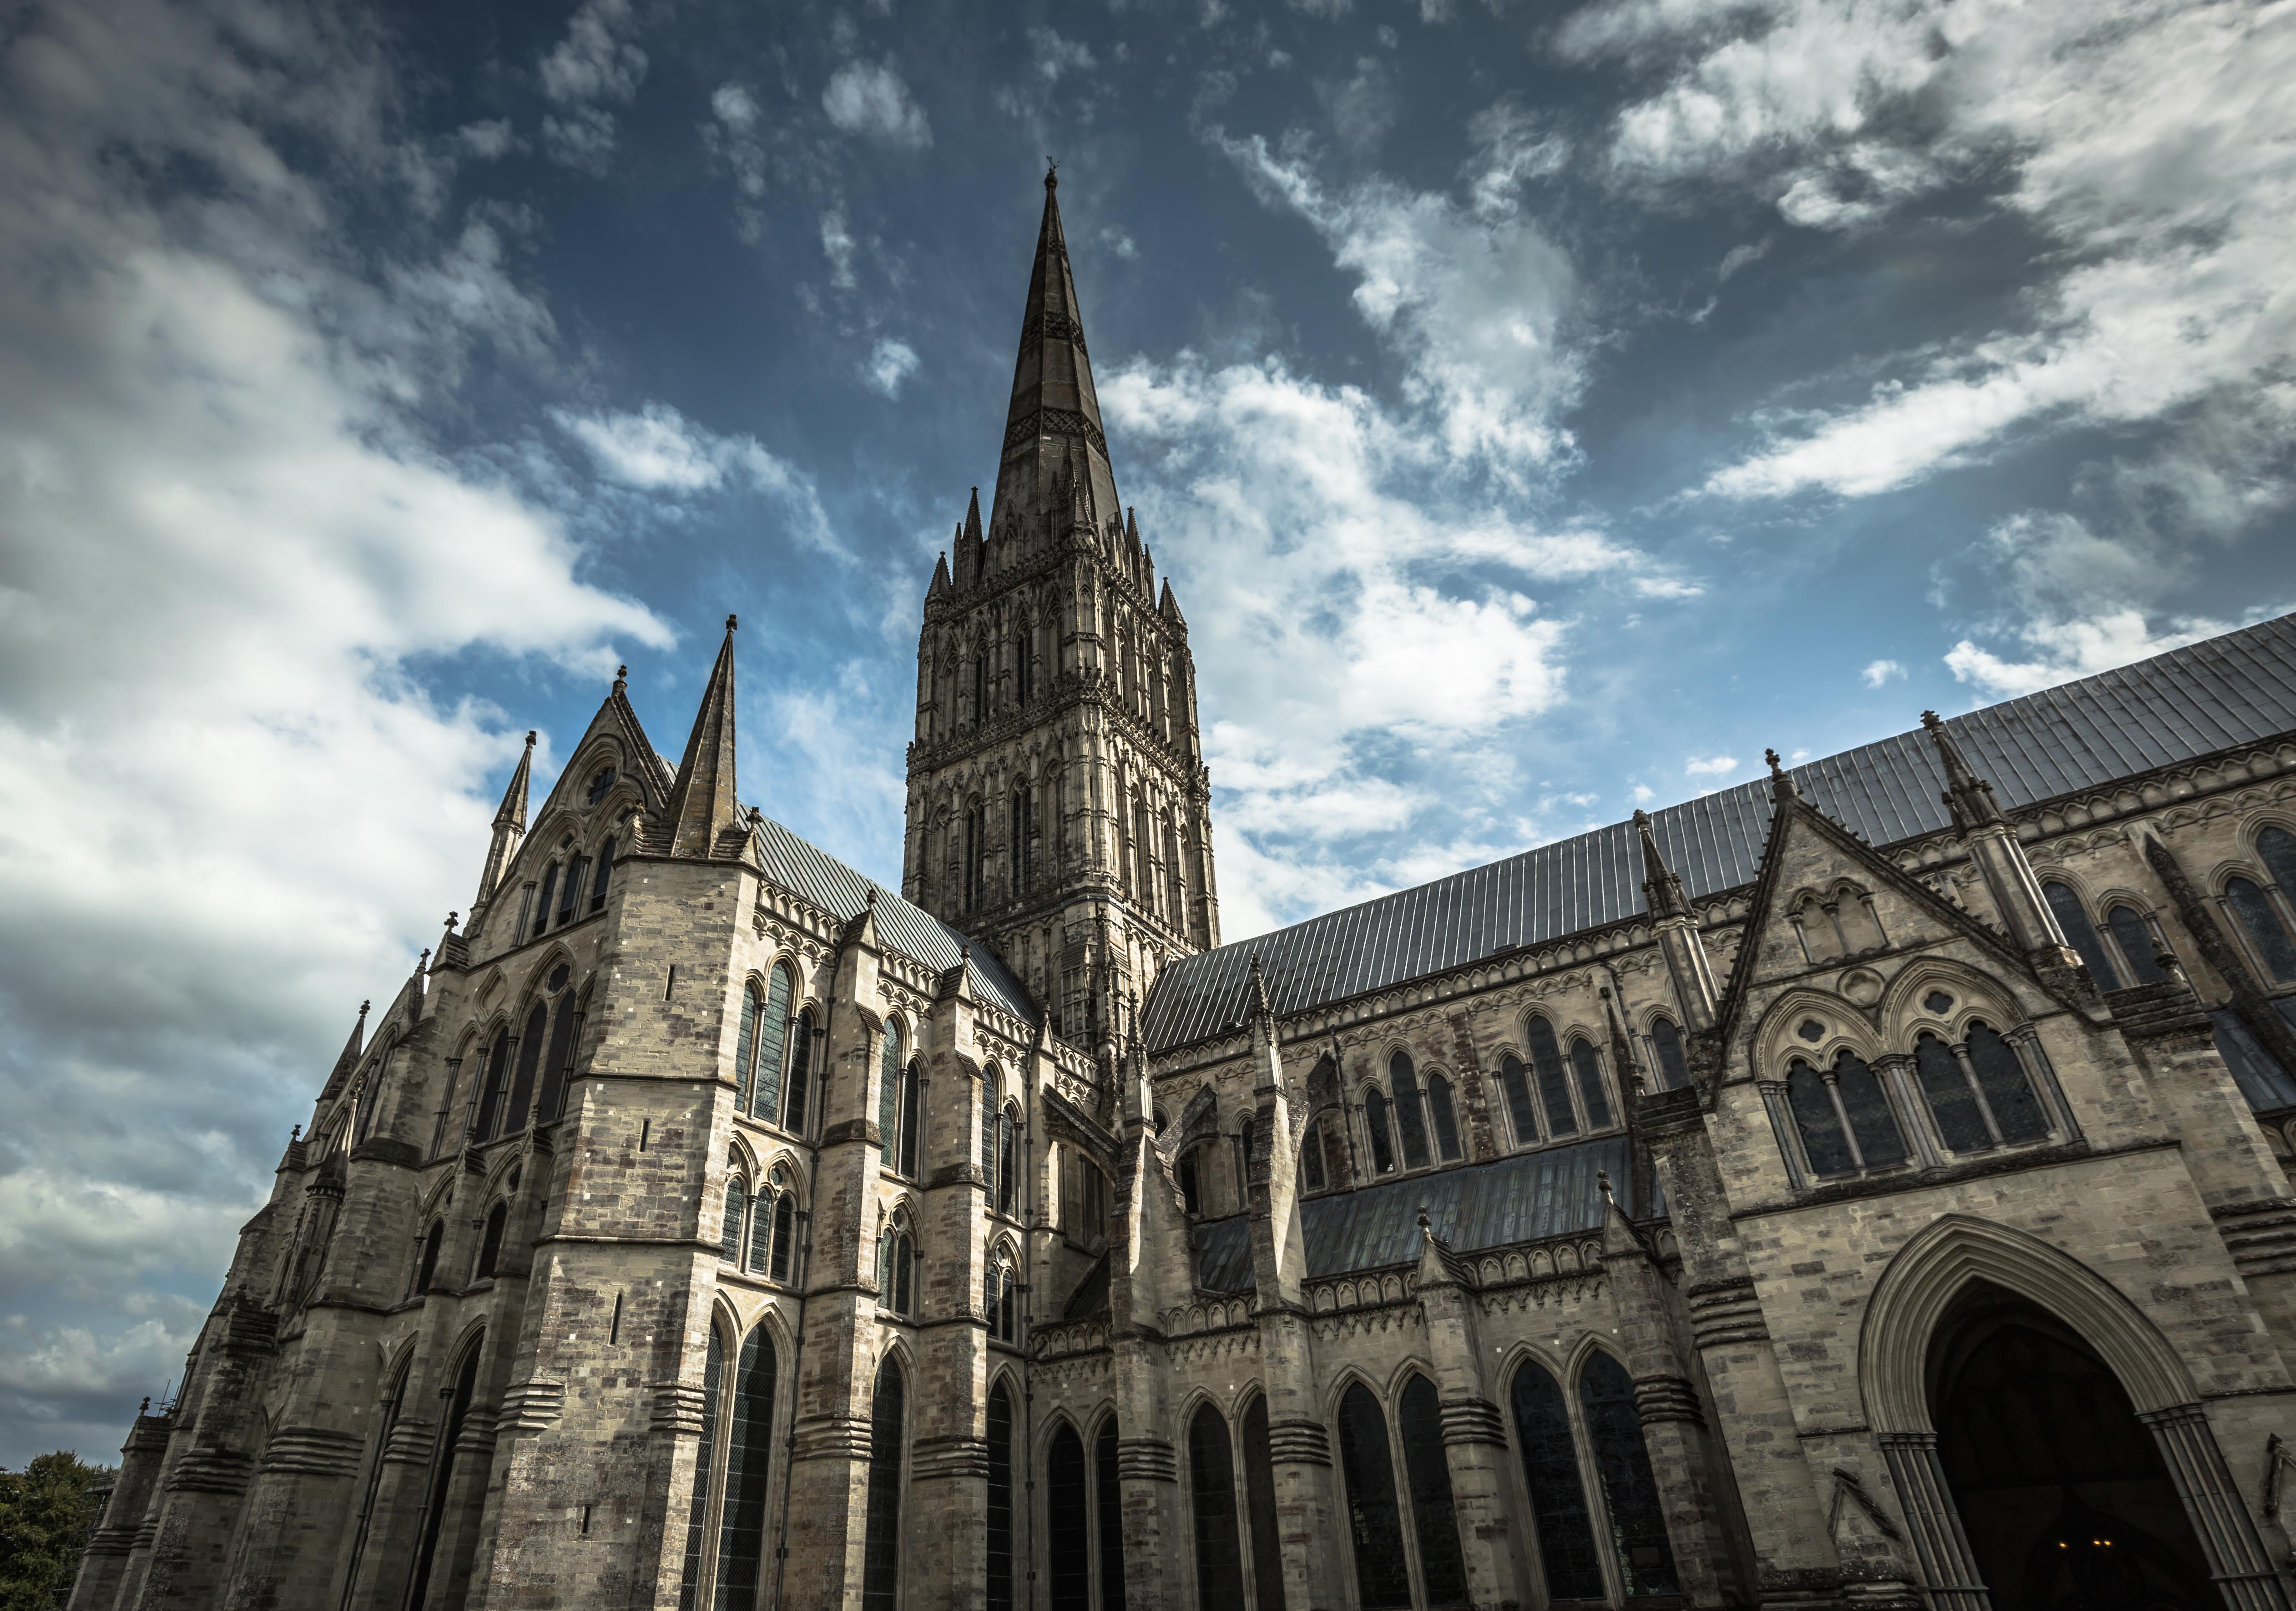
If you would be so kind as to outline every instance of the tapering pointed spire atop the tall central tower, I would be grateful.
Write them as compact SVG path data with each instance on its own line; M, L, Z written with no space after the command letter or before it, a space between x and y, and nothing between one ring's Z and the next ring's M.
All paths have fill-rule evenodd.
M1006 411L990 526L1001 526L1013 514L1031 519L1047 507L1065 516L1068 509L1054 505L1052 493L1072 443L1084 450L1091 507L1118 507L1109 438L1100 429L1100 395L1093 390L1093 360L1084 351L1084 310L1077 303L1077 275L1068 264L1058 193L1061 174L1047 172L1045 223L1035 232L1035 268L1029 273L1029 303L1022 308L1013 406Z

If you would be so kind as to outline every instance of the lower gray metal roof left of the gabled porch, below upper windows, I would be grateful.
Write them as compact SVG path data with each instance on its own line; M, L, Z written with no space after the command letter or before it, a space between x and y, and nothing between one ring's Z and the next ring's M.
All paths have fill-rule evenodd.
M1626 1136L1515 1152L1490 1164L1309 1198L1300 1205L1306 1274L1343 1276L1417 1260L1419 1209L1426 1209L1428 1228L1456 1253L1596 1230L1603 1223L1598 1170L1609 1173L1614 1191L1628 1191L1635 1170L1628 1168ZM1662 1205L1630 1200L1626 1207L1639 1219ZM1249 1292L1251 1285L1251 1216L1231 1214L1199 1223L1196 1287Z

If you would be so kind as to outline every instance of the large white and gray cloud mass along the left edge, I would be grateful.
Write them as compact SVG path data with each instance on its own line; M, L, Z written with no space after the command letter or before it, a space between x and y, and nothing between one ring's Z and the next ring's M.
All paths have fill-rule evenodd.
M416 668L604 691L668 643L422 429L473 344L533 365L553 335L491 227L422 211L439 174L370 39L85 0L0 57L9 1464L117 1446L351 1007L468 900L519 732ZM354 211L395 220L379 262Z

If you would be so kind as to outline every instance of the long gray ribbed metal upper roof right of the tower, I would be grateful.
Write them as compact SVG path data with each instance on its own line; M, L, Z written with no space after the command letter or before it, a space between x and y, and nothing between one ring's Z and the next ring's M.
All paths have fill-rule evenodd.
M2296 615L2135 666L1954 716L1945 727L2007 808L2296 732ZM1793 769L1802 796L1874 845L1949 826L1929 737L1901 732ZM1690 895L1754 881L1770 828L1768 780L1653 815ZM1456 872L1419 888L1169 964L1143 1012L1150 1051L1244 1019L1251 957L1277 1014L1304 1012L1644 911L1632 824Z

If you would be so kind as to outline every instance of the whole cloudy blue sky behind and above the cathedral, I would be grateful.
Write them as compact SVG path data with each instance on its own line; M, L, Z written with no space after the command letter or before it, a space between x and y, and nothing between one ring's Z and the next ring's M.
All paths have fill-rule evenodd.
M2287 7L0 34L0 1462L117 1446L613 668L900 872L1045 156L1231 939L2296 608Z

